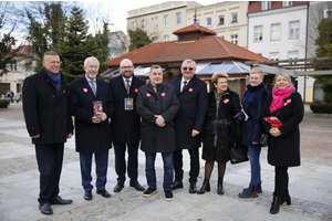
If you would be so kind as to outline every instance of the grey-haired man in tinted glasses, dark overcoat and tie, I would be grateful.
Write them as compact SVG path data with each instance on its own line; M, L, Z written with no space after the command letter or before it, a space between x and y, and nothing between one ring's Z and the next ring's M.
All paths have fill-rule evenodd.
M181 64L181 75L172 80L170 85L180 103L175 118L176 150L174 152L175 181L174 189L183 188L183 149L190 155L189 193L196 192L196 182L199 175L200 133L208 104L207 84L195 74L196 62L185 60Z

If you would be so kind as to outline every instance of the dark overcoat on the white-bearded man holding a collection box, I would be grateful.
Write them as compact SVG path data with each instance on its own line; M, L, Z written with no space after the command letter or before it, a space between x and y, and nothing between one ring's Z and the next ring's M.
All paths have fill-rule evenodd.
M85 76L73 81L70 85L71 114L75 117L75 141L79 152L103 152L112 147L108 118L114 112L114 102L107 82L96 78L96 96L94 96ZM93 102L103 103L103 112L107 119L92 123Z

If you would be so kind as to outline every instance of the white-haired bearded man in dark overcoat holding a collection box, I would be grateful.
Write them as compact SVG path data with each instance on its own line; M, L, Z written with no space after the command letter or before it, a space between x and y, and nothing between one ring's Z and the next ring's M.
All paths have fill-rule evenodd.
M84 199L92 200L91 167L94 155L96 165L96 193L105 198L108 149L112 147L108 118L114 112L113 97L107 82L96 77L100 69L94 56L84 61L85 75L70 85L71 113L75 116L76 151L80 152Z

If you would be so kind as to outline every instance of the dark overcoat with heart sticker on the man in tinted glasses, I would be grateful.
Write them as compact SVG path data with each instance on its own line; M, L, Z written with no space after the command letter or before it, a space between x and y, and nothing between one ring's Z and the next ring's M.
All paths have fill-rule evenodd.
M205 114L208 104L207 84L196 75L180 92L183 75L172 80L180 108L175 117L176 148L195 149L200 147L200 134L193 137L193 129L203 131Z

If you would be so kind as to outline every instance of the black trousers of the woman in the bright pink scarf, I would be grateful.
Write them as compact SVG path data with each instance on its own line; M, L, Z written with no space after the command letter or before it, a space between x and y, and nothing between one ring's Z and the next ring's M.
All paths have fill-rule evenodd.
M288 167L276 167L274 168L276 178L274 178L274 197L284 197L288 196Z

